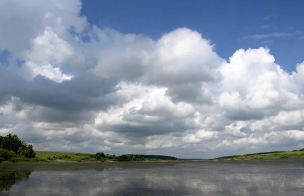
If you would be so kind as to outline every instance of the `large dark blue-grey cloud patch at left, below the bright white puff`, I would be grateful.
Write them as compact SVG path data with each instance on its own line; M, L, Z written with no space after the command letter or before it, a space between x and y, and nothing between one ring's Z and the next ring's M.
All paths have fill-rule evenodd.
M106 110L110 105L122 103L124 98L116 94L119 90L116 88L118 83L117 79L104 79L90 74L75 76L62 83L56 83L42 75L36 76L32 81L3 75L0 77L0 97L6 98L2 99L3 103L10 96L19 98L15 102L16 110L21 110L24 104L43 106L45 110L42 114L49 113L50 119L60 121L63 116L66 119L85 117L78 112ZM35 117L39 119L39 116Z

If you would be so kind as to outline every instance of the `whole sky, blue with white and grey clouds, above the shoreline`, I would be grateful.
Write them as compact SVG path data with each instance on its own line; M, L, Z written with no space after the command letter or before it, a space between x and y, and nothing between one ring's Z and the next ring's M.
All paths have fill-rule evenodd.
M178 158L304 147L304 2L0 3L0 135Z

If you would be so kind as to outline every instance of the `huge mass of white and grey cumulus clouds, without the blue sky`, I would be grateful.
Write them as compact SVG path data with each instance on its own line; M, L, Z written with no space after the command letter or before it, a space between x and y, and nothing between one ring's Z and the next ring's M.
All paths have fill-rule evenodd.
M289 74L268 48L225 60L195 30L153 40L98 28L80 10L78 0L4 1L1 135L37 150L180 158L302 145L304 63Z

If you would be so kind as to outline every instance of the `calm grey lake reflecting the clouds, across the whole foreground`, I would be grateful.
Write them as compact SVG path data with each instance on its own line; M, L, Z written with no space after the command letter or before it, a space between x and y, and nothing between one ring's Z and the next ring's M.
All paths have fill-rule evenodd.
M303 194L303 160L0 164L0 195Z

